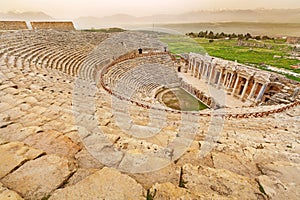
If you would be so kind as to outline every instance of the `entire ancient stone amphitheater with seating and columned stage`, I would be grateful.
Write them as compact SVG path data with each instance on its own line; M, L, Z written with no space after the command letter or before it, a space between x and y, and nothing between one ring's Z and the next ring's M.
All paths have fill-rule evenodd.
M299 83L149 32L25 25L0 23L0 199L299 199ZM179 87L208 108L158 100Z

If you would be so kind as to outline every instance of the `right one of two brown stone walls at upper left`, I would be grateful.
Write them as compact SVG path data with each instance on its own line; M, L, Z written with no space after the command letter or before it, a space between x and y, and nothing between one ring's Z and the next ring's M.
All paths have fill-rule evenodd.
M32 29L75 30L73 22L30 22Z

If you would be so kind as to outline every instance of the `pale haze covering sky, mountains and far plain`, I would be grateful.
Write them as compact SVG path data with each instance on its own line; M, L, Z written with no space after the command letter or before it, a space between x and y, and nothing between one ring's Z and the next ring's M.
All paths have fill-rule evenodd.
M181 33L212 30L300 36L298 0L13 0L0 5L2 20L71 20L77 29L155 26Z

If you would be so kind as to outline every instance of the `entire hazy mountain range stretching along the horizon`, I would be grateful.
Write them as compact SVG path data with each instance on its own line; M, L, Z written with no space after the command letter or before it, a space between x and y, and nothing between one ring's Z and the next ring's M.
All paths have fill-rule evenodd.
M64 20L54 18L41 11L0 12L1 20ZM157 14L136 17L124 13L110 16L81 16L72 20L82 28L100 28L126 24L166 24L166 23L216 23L216 22L260 22L260 23L300 23L300 8L295 9L221 9L198 10L182 14Z

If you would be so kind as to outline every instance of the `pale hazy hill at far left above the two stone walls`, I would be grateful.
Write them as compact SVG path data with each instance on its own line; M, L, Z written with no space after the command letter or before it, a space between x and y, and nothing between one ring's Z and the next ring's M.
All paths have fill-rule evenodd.
M30 20L53 20L54 18L43 13L43 12L0 12L0 20L22 20L22 21L30 21Z

